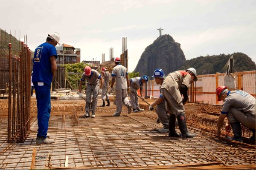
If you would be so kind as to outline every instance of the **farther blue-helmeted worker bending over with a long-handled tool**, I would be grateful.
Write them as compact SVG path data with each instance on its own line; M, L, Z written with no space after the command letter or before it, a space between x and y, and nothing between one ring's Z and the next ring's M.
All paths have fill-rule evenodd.
M140 96L142 100L144 101L143 97L143 84L148 82L148 76L143 76L141 77L134 77L129 80L130 82L130 87L131 87L131 93L130 93L130 99L131 99L131 105L133 108L133 112L138 112L138 111L144 111L144 109L140 108L139 102L138 102L138 93L137 90L140 89Z

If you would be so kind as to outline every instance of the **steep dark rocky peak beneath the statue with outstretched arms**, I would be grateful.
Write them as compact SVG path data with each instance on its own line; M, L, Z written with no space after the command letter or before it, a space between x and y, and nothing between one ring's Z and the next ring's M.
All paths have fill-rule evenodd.
M180 44L165 34L145 48L134 72L139 72L140 76L146 74L151 77L155 69L161 68L167 74L178 70L185 62L186 58Z

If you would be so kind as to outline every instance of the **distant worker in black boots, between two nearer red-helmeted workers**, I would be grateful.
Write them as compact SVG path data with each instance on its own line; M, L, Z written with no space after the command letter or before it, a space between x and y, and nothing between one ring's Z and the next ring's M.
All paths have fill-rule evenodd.
M110 105L110 102L109 102L109 98L108 98L108 87L109 87L109 79L110 79L110 72L108 71L107 68L105 67L102 67L102 65L100 65L100 70L101 70L101 73L102 73L102 77L104 79L104 85L103 85L103 88L102 88L102 105L101 107L105 107L105 99L107 100L108 102L108 105Z

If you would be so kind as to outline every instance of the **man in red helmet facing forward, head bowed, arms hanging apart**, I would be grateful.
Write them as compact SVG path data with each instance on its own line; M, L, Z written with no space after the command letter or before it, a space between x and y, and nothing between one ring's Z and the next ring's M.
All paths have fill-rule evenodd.
M95 111L97 106L98 94L102 91L102 86L104 80L102 76L98 73L98 71L93 70L90 66L84 67L84 73L82 74L80 83L79 83L79 96L82 97L81 89L82 83L87 80L86 84L86 105L85 105L85 114L84 117L90 117L90 105L92 106L92 118L95 118ZM101 81L99 87L99 80ZM93 94L93 101L91 101L91 97Z

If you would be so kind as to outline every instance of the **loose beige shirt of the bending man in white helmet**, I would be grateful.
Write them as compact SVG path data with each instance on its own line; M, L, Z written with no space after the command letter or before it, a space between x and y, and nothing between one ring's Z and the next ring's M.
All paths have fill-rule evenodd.
M165 88L173 98L180 103L182 97L180 94L181 85L186 85L189 88L189 83L191 81L191 76L186 71L175 71L167 75L163 81L161 88Z

